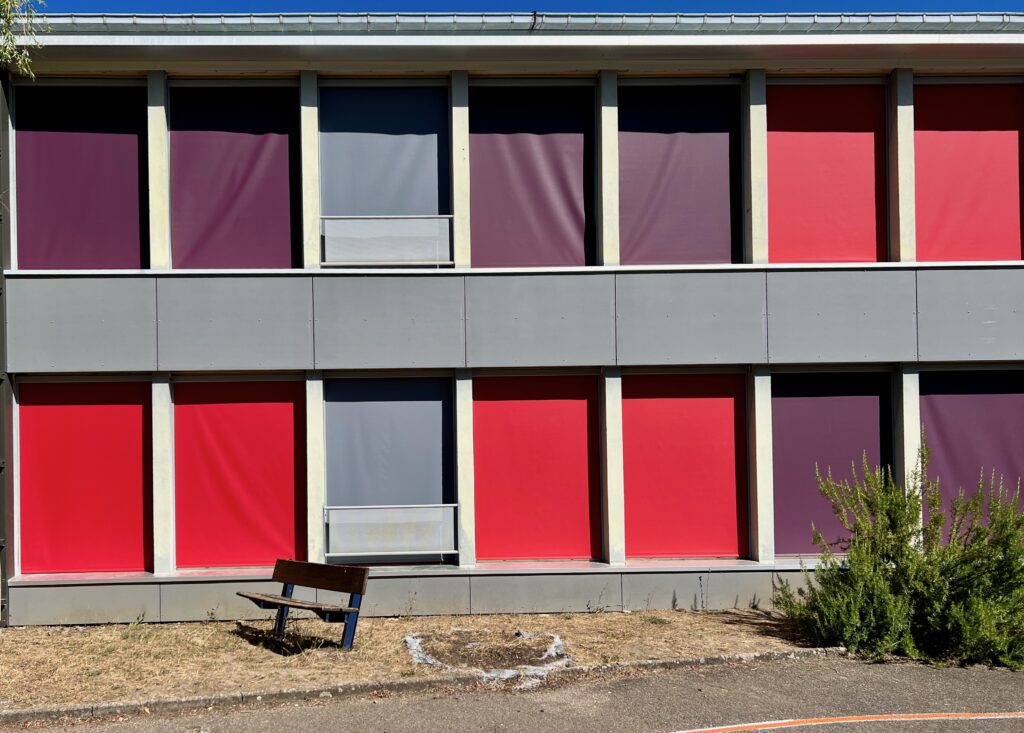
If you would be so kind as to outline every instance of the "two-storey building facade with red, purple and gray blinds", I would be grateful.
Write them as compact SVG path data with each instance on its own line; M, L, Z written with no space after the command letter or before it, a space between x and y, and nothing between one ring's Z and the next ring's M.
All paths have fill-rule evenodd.
M815 467L1024 475L1024 16L44 25L5 623L766 606Z

